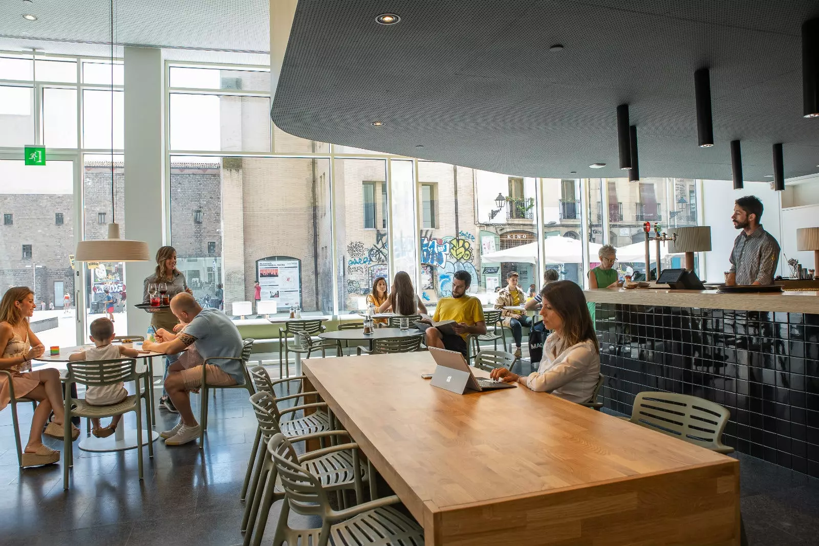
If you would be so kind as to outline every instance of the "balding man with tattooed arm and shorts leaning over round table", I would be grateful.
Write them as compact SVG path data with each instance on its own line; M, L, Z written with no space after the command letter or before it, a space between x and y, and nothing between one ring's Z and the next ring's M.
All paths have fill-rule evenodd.
M202 369L207 367L209 385L230 386L245 382L242 372L242 336L227 315L219 309L202 309L197 300L187 292L181 292L170 300L170 310L185 324L179 334L160 328L156 332L158 343L143 343L144 350L176 354L194 345L202 359L213 359L207 364L174 371L169 368L165 390L179 410L179 423L170 431L161 432L166 445L187 444L196 440L200 428L191 410L191 390L201 386ZM221 357L221 358L219 358Z

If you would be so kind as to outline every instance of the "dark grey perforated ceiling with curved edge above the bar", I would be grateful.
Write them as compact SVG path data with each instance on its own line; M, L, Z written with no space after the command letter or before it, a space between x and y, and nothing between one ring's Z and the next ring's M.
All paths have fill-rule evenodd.
M384 11L400 23L378 25ZM272 116L288 133L369 150L616 177L615 110L627 102L642 176L731 178L739 138L746 179L770 180L774 142L791 178L819 172L819 120L801 116L799 34L813 16L819 3L804 0L300 0ZM712 148L697 147L701 66Z

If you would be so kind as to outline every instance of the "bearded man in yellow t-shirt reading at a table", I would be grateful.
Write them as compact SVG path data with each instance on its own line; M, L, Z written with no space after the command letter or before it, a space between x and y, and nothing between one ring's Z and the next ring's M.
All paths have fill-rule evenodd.
M452 296L441 298L435 308L432 320L454 320L455 333L445 334L434 327L427 328L426 342L428 347L456 350L464 355L468 354L466 338L469 334L485 334L486 322L483 318L481 300L467 296L466 291L472 284L472 275L466 271L456 271L452 279Z

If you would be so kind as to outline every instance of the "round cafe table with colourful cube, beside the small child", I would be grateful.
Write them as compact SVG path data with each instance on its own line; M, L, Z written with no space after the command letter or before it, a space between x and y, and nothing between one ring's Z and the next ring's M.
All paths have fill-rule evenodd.
M119 345L119 344L117 344ZM141 350L141 343L124 343L126 347L133 347L133 349ZM79 345L76 347L61 347L59 354L48 354L48 352L43 353L38 359L34 359L38 362L43 362L42 365L38 365L33 367L34 370L42 370L44 368L55 368L60 372L60 378L62 380L66 379L68 375L68 359L71 354L79 353L80 351L84 351L87 349L92 348L93 345ZM151 365L151 358L154 356L165 356L161 353L153 353L149 352L147 354L140 354L137 357L137 373L140 377L144 376L145 374L150 374L149 377L153 377L152 365ZM147 360L146 360L147 359ZM142 362L139 362L139 361ZM151 381L152 382L152 381ZM153 396L149 395L147 404L148 408L148 416L149 420L153 418ZM122 422L120 422L122 423ZM142 423L139 423L138 426L142 426ZM159 438L159 434L154 431L145 430L143 429L143 445L147 444L149 441L156 441ZM88 436L84 440L80 440L79 442L79 449L83 451L93 451L93 452L108 452L108 451L124 451L125 449L134 449L138 446L137 443L137 431L136 429L129 429L125 430L124 426L117 426L116 431L113 435L108 436L107 438L97 438L97 436Z

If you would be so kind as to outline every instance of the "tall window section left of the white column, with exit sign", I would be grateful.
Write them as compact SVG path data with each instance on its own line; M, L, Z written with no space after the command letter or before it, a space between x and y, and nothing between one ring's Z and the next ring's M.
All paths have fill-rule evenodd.
M87 339L100 316L128 333L122 264L80 270L73 260L76 241L107 237L107 223L123 221L122 83L120 61L0 52L0 287L34 288L33 322L46 345ZM45 147L45 165L24 164L31 144Z

